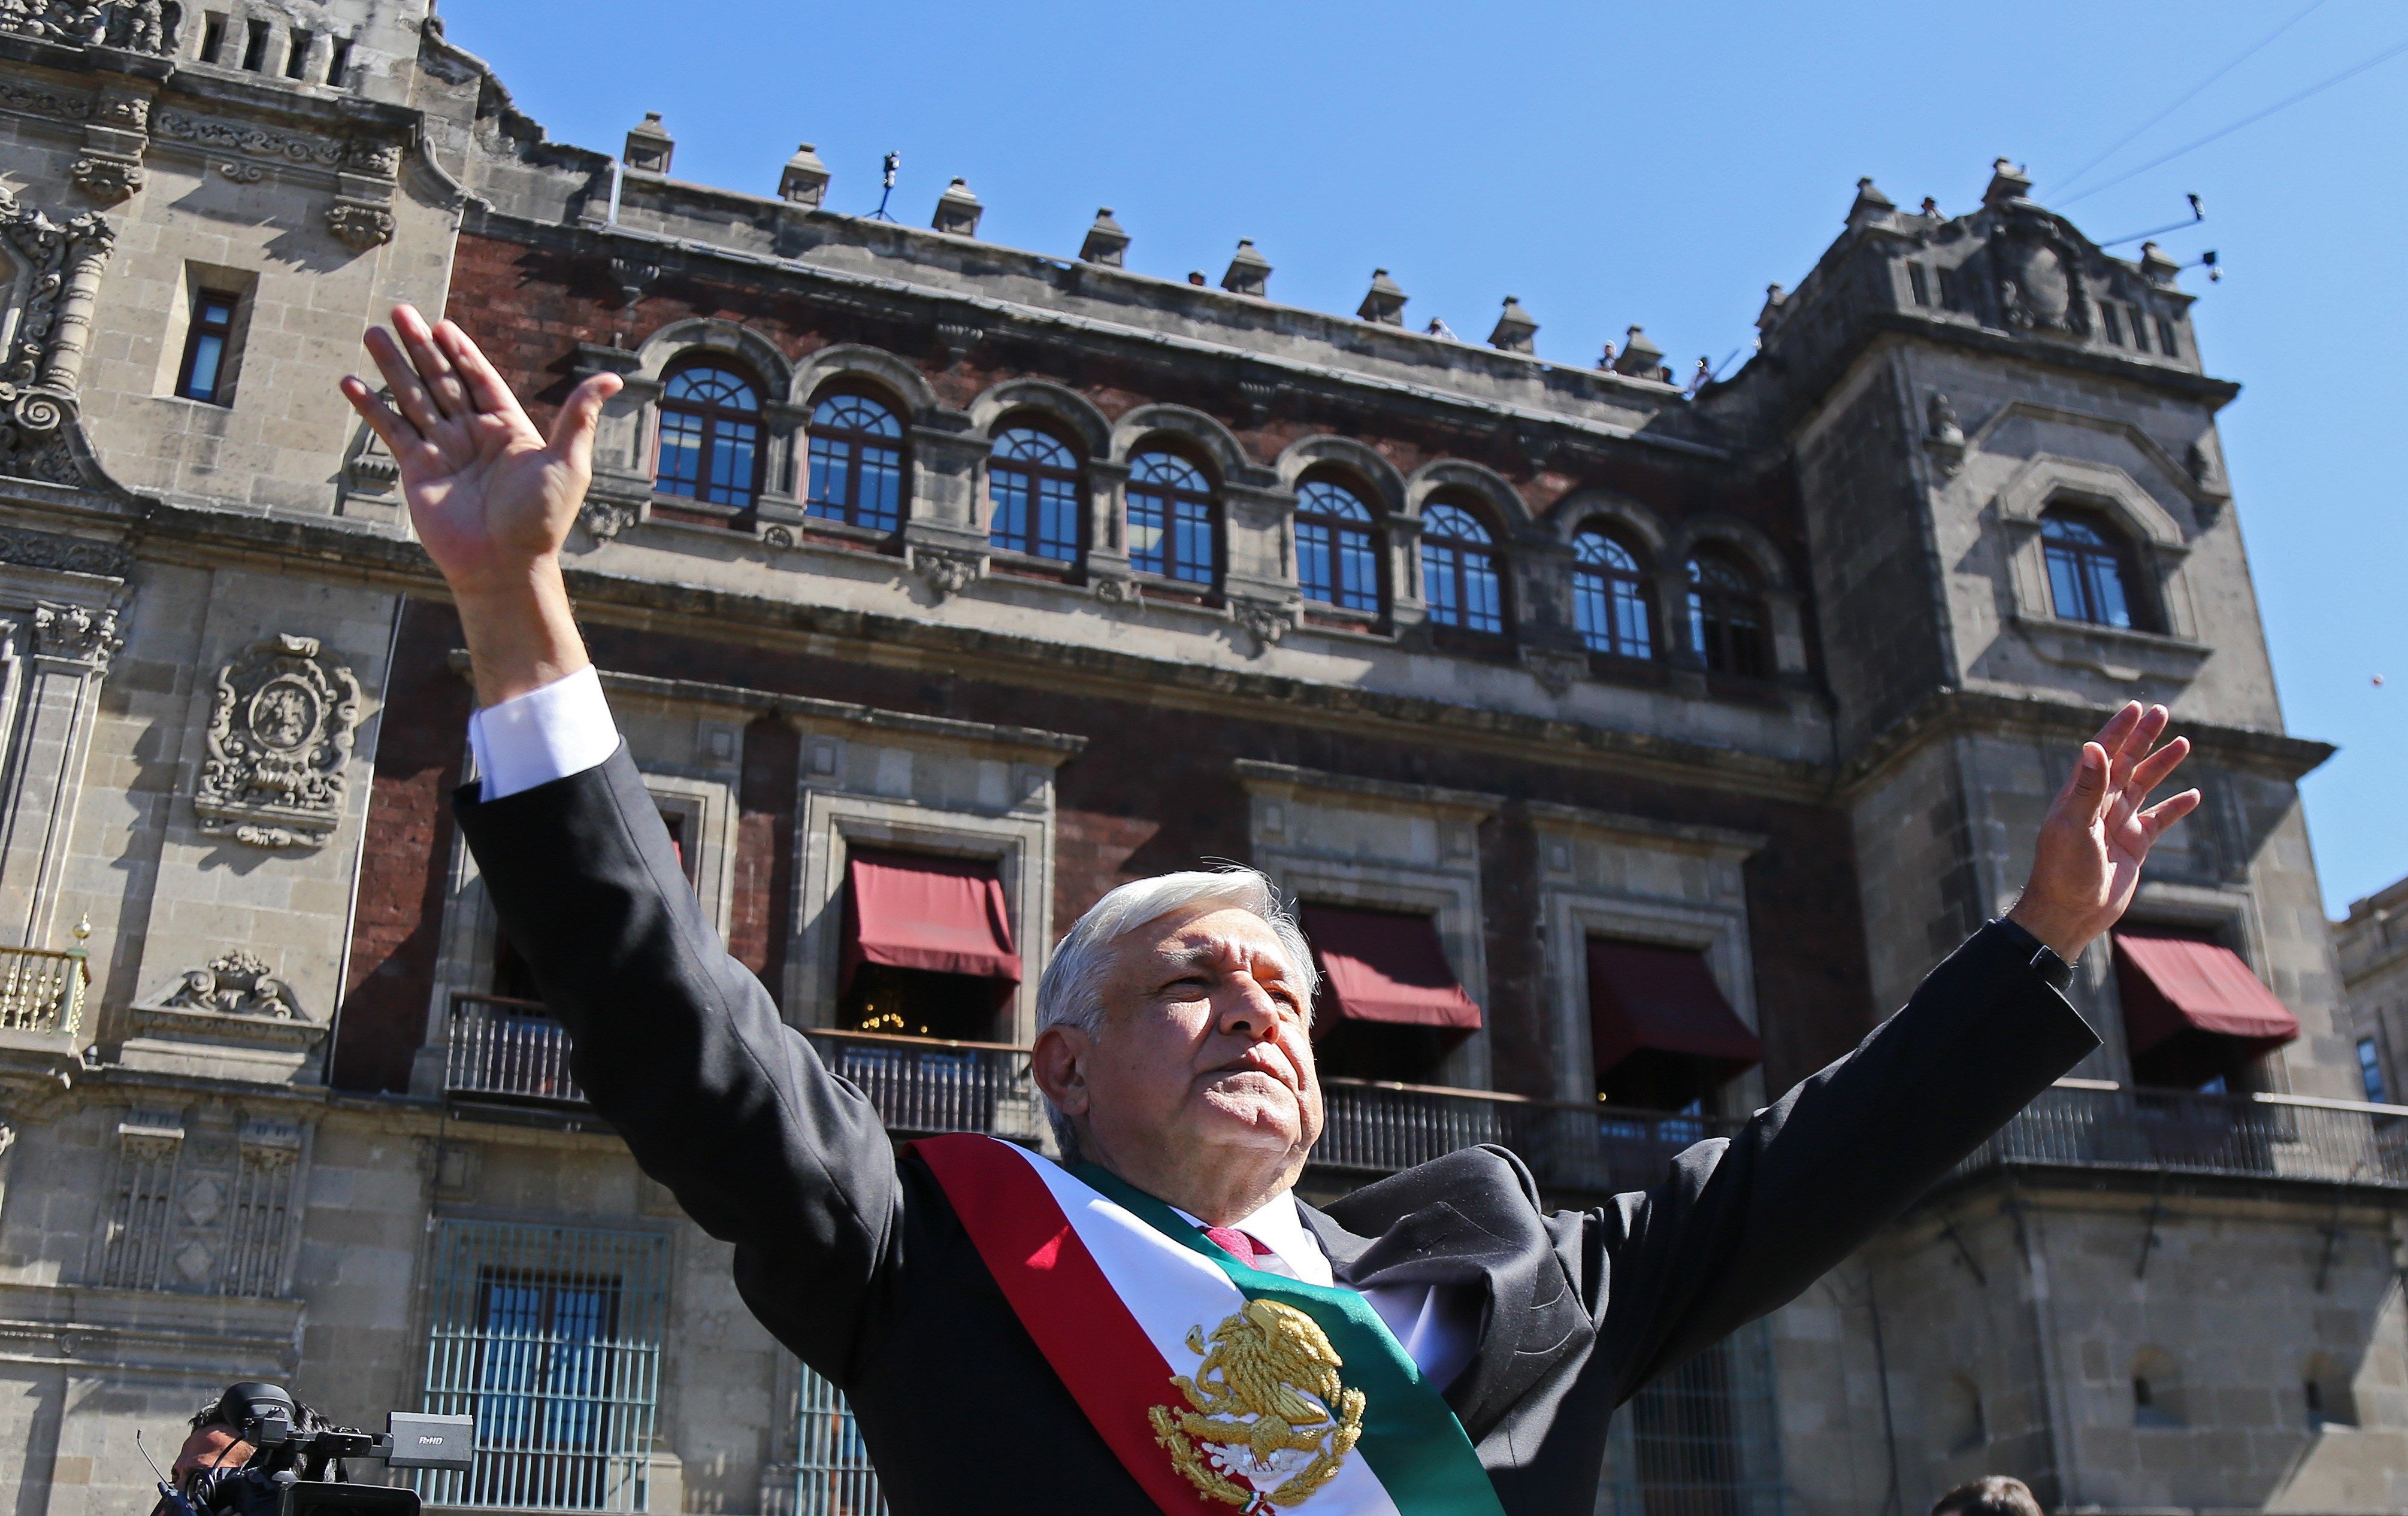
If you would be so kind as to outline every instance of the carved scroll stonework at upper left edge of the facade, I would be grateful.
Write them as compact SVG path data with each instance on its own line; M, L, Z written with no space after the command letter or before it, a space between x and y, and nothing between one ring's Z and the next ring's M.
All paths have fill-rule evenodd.
M0 474L82 484L67 433L92 349L92 306L116 241L96 212L60 226L0 185L0 243L19 270L0 286L0 318L12 313L17 325L0 351Z

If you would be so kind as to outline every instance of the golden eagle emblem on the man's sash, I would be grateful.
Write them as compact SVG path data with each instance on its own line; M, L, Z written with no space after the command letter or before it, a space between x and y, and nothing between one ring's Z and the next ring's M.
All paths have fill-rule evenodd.
M1197 1494L1269 1516L1336 1477L1363 1437L1363 1391L1339 1379L1346 1364L1312 1316L1250 1299L1209 1340L1190 1326L1187 1350L1204 1362L1170 1376L1185 1405L1146 1417Z

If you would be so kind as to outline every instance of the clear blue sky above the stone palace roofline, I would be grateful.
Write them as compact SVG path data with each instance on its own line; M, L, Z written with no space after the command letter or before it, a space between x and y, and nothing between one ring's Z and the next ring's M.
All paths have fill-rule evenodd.
M1110 205L1132 267L1218 279L1250 236L1279 301L1353 310L1387 267L1409 320L1466 337L1515 294L1558 361L1630 322L1681 373L1722 361L1864 173L1900 205L1965 209L2008 154L2102 241L2199 193L2208 221L2160 241L2225 267L2184 282L2208 368L2244 385L2225 452L2288 727L2343 746L2307 780L2326 907L2408 874L2408 55L2083 195L2408 43L2396 0L443 0L443 17L559 140L609 149L660 111L679 178L768 193L809 140L831 209L867 212L898 149L893 214L913 224L958 173L987 205L980 236L1069 255Z

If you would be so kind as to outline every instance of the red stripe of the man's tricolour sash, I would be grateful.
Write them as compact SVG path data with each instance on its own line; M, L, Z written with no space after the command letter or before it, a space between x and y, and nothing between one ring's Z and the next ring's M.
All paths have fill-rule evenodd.
M1194 1516L1194 1485L1146 1422L1146 1408L1170 1398L1170 1364L1120 1304L1045 1182L997 1138L954 1133L920 1138L910 1150L937 1174L987 1273L1112 1456L1165 1514Z

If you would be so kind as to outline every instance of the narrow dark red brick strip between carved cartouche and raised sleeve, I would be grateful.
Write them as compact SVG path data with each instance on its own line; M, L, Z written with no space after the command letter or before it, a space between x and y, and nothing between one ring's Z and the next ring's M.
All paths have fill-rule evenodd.
M460 618L450 606L405 602L368 792L352 982L335 1030L340 1090L407 1090L426 1032L453 852L450 792L474 710L467 681L450 667L453 647Z

